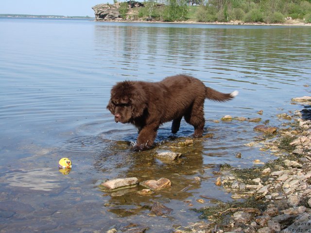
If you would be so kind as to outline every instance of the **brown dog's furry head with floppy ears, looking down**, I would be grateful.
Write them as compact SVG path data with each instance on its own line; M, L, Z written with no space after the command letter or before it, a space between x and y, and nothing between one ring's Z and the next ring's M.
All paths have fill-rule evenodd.
M112 87L107 109L116 122L129 123L142 116L146 108L147 97L140 83L124 81Z

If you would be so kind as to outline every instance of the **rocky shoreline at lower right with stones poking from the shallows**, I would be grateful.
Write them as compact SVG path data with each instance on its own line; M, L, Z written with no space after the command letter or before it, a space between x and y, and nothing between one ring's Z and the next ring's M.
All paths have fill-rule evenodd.
M218 202L217 205L194 210L201 213L204 220L198 220L189 226L178 226L173 230L174 233L311 231L311 109L308 109L311 97L296 98L292 101L302 103L305 108L302 111L278 115L289 120L288 123L282 124L282 128L260 126L262 138L247 145L260 145L260 150L269 150L278 158L266 164L255 160L254 164L263 165L251 168L240 169L227 164L221 166L221 169L214 173L215 185L230 193L235 201ZM232 118L225 116L222 120ZM264 130L261 130L262 128ZM258 130L258 126L254 130ZM191 141L186 140L184 143L189 145ZM176 146L183 145L178 143ZM174 160L179 154L167 152L157 156L164 160ZM242 154L237 153L236 157L241 158ZM171 185L166 178L140 183L137 178L120 180L107 181L101 186L108 188L109 192L116 187L126 189L127 185L142 185L145 189L139 191L138 195L150 195ZM150 215L166 216L171 211L172 209L155 202ZM130 228L135 233L144 233L148 229L147 226L138 225ZM118 231L111 229L107 233L115 232Z

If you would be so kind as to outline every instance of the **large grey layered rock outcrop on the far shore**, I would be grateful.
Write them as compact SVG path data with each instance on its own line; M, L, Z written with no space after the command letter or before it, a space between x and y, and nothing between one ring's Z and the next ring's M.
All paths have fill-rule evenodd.
M94 10L96 21L122 19L119 9L115 4L98 4L93 6L92 9Z

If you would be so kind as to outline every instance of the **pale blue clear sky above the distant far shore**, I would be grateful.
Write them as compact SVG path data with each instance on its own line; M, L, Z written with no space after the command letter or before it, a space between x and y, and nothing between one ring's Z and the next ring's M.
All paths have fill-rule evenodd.
M0 0L0 14L95 17L92 6L113 0Z

